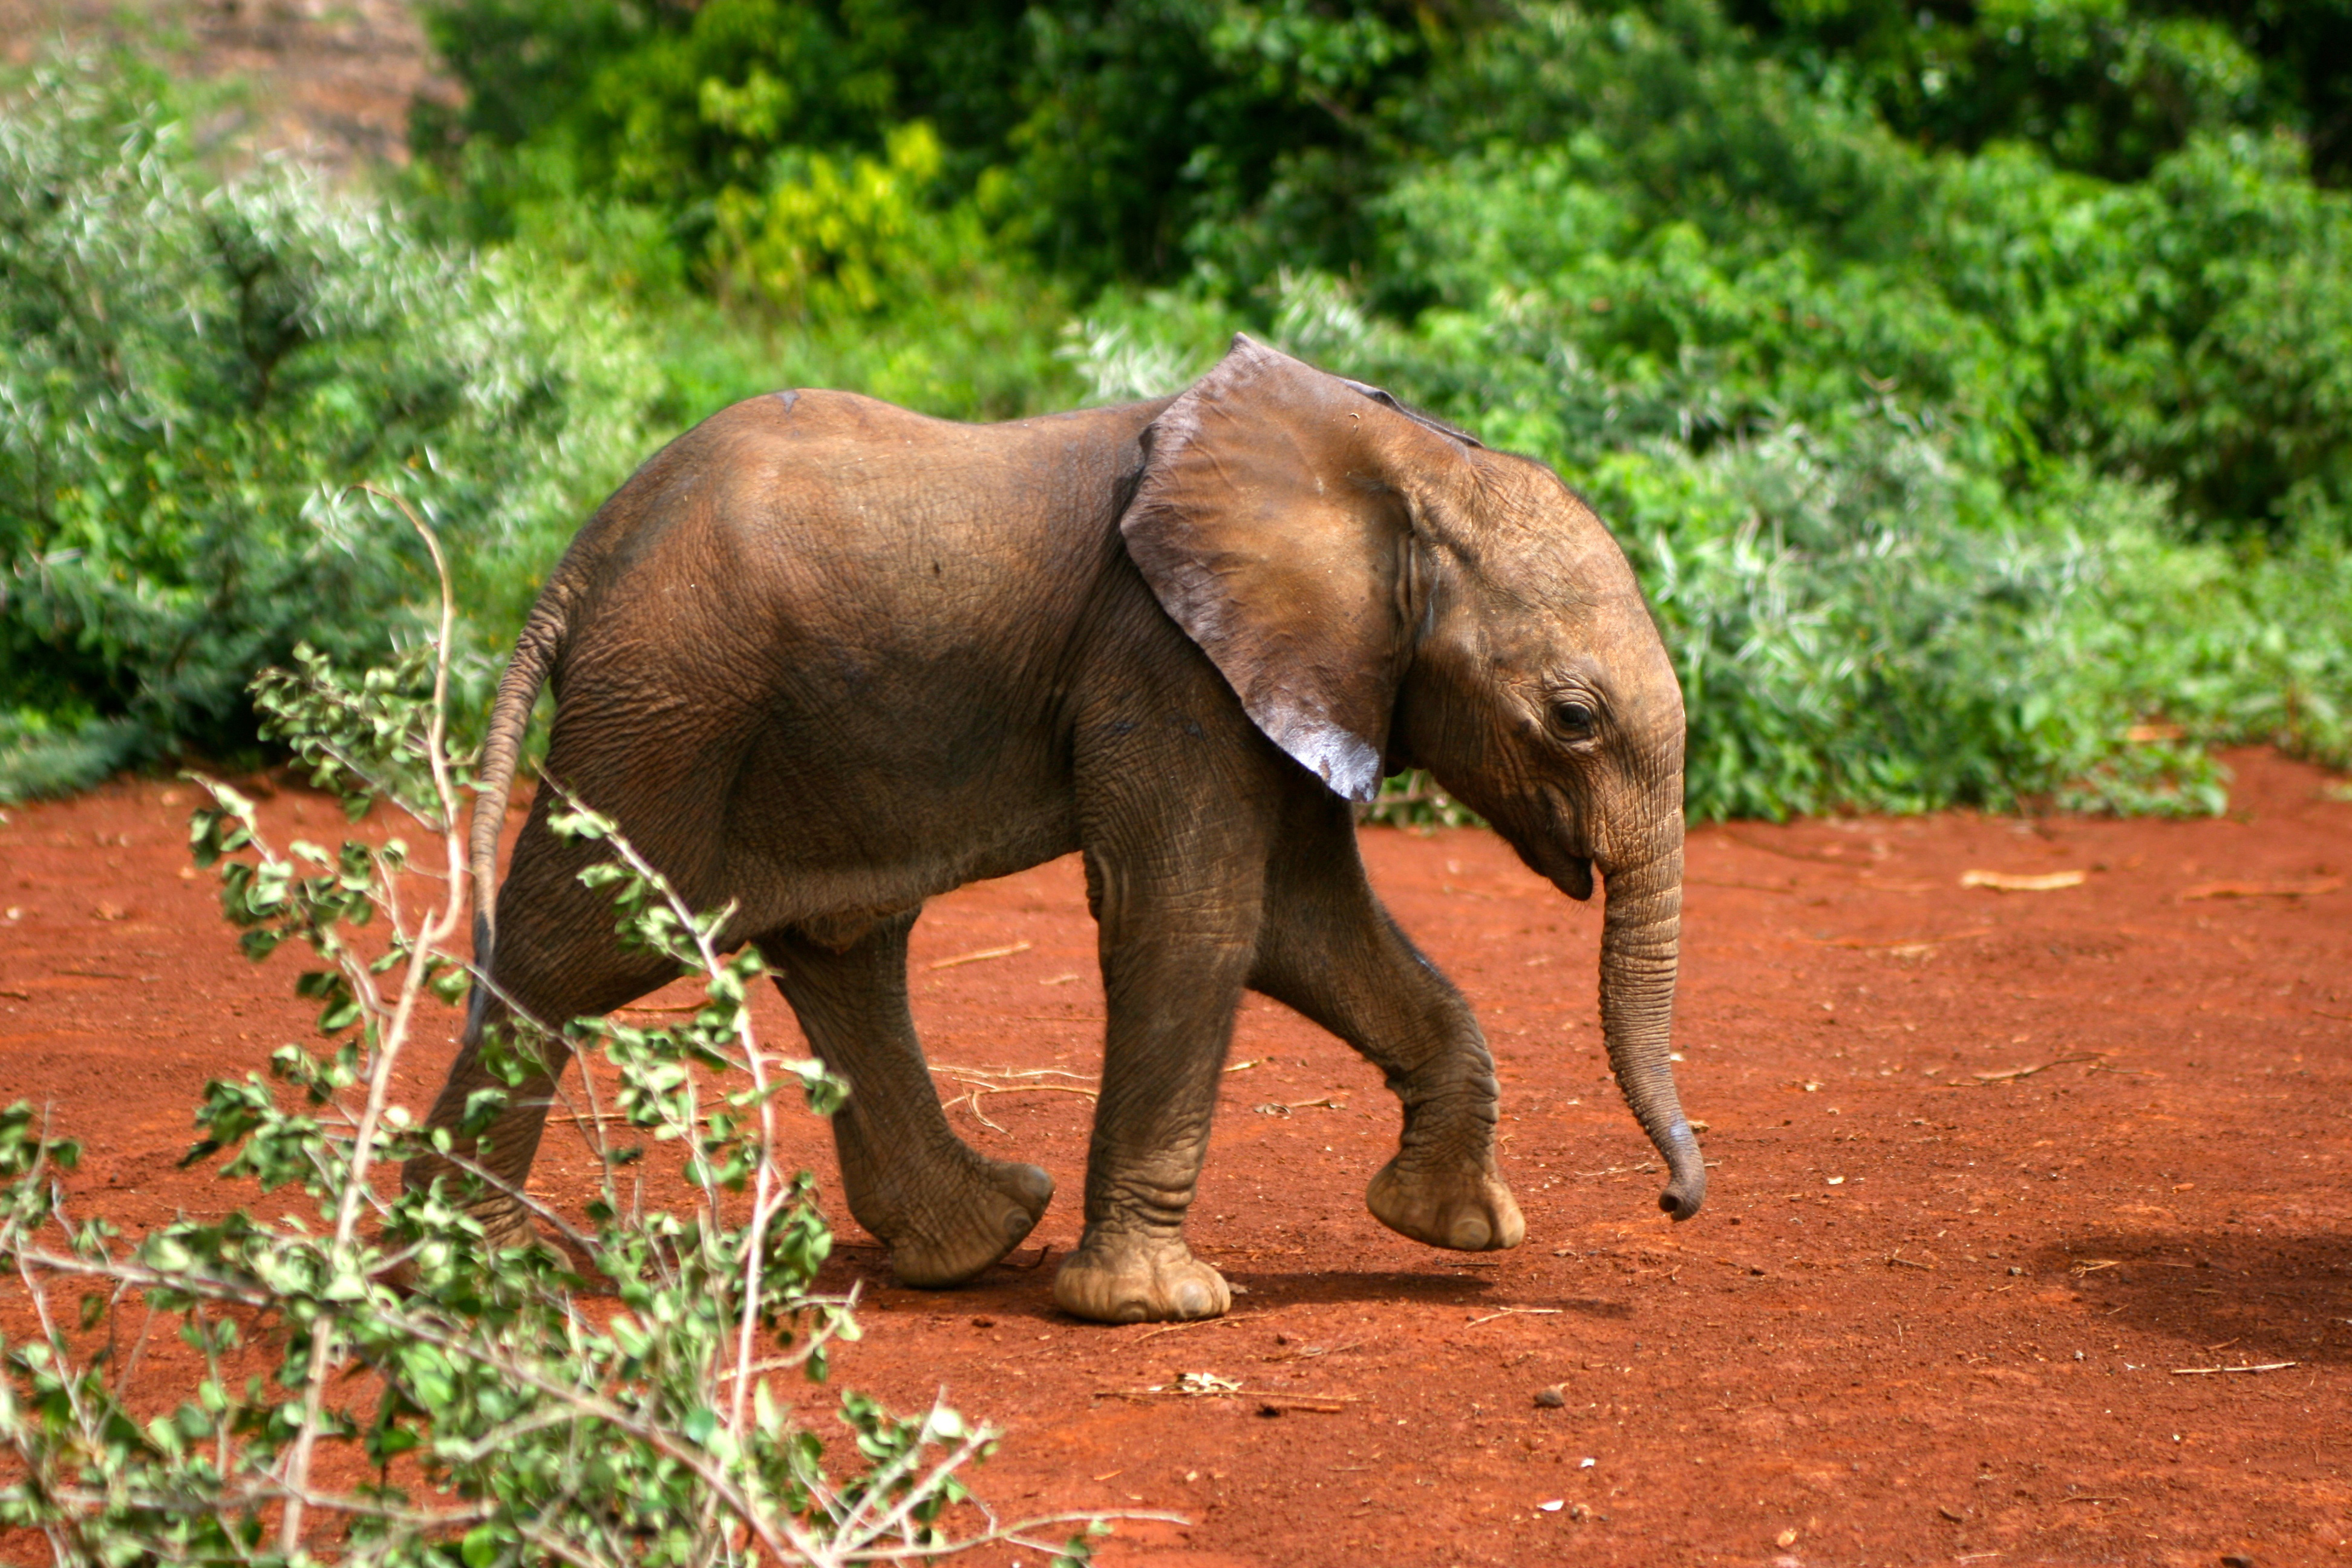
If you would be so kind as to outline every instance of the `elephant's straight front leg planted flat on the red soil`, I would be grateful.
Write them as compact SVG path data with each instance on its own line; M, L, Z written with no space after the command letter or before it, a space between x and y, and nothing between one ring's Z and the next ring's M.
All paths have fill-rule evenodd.
M1181 886L1167 856L1087 856L1103 950L1103 1088L1087 1234L1054 1300L1098 1324L1221 1316L1225 1279L1183 1241L1258 919L1249 886Z

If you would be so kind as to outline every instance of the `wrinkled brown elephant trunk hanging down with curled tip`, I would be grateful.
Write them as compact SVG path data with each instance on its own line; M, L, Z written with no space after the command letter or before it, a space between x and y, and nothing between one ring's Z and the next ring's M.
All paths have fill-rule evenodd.
M1644 860L1604 872L1602 1034L1625 1105L1665 1157L1658 1208L1689 1220L1708 1197L1708 1166L1675 1093L1675 966L1682 950L1682 820Z

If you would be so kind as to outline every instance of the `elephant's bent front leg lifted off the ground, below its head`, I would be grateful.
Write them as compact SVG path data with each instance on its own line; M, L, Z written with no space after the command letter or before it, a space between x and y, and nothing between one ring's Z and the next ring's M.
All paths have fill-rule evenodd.
M1374 1218L1463 1253L1519 1246L1526 1222L1494 1159L1486 1037L1381 907L1345 811L1331 802L1275 860L1251 987L1355 1046L1404 1103L1397 1157L1364 1192Z

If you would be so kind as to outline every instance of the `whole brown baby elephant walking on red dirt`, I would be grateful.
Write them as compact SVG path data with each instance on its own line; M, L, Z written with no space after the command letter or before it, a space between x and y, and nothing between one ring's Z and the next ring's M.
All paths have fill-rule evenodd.
M1705 1168L1668 1027L1682 910L1682 691L1616 543L1543 465L1237 339L1181 397L1004 425L849 393L736 404L581 529L499 689L473 825L480 907L541 682L548 773L696 907L741 905L823 1060L856 1220L901 1279L969 1279L1051 1197L969 1150L908 1018L936 893L1084 851L1108 1032L1087 1232L1054 1298L1200 1319L1230 1293L1183 1241L1242 990L1331 1030L1404 1103L1367 1201L1461 1251L1526 1227L1496 1173L1496 1081L1461 992L1364 882L1348 799L1425 766L1571 898L1606 884L1602 1023L1670 1185ZM433 1110L492 1079L506 1006L607 1013L675 978L619 950L541 790L496 891L506 1001L477 990ZM560 1070L560 1065L557 1065ZM553 1079L485 1164L513 1190ZM409 1185L447 1175L407 1168ZM480 1206L501 1244L522 1206Z

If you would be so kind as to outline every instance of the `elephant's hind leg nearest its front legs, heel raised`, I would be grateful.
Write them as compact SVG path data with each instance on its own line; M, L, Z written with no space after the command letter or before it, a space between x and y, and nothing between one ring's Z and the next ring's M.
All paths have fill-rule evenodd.
M760 938L816 1056L849 1081L833 1117L842 1190L910 1286L953 1286L1014 1251L1054 1197L1037 1166L988 1159L948 1128L906 1004L906 936L889 919L835 952L797 933Z

